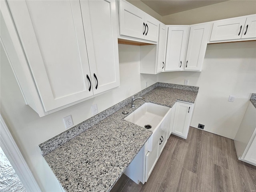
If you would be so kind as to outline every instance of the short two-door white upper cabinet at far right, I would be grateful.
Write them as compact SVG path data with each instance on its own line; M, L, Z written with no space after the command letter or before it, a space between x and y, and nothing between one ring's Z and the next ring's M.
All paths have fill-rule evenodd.
M214 22L210 42L256 38L256 15Z

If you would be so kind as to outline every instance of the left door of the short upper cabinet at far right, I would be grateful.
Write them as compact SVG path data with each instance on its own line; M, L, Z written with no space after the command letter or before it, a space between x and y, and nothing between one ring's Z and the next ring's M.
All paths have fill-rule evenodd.
M240 39L245 21L246 18L239 18L215 22L210 41Z

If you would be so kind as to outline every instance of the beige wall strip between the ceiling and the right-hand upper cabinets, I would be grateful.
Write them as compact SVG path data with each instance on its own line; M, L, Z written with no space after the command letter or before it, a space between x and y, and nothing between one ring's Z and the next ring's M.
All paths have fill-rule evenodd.
M191 25L208 21L256 14L255 0L229 0L162 17L166 25Z

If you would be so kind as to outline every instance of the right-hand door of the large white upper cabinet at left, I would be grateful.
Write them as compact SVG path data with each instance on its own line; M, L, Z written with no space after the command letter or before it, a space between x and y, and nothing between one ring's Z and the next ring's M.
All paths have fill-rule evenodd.
M94 94L120 85L116 4L114 0L80 1ZM90 26L91 30L86 30ZM90 29L89 28L89 29Z

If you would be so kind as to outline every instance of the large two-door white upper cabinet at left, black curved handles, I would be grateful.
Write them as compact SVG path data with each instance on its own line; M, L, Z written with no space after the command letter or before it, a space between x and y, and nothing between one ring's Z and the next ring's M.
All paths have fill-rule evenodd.
M42 102L40 116L119 86L114 1L8 4Z

